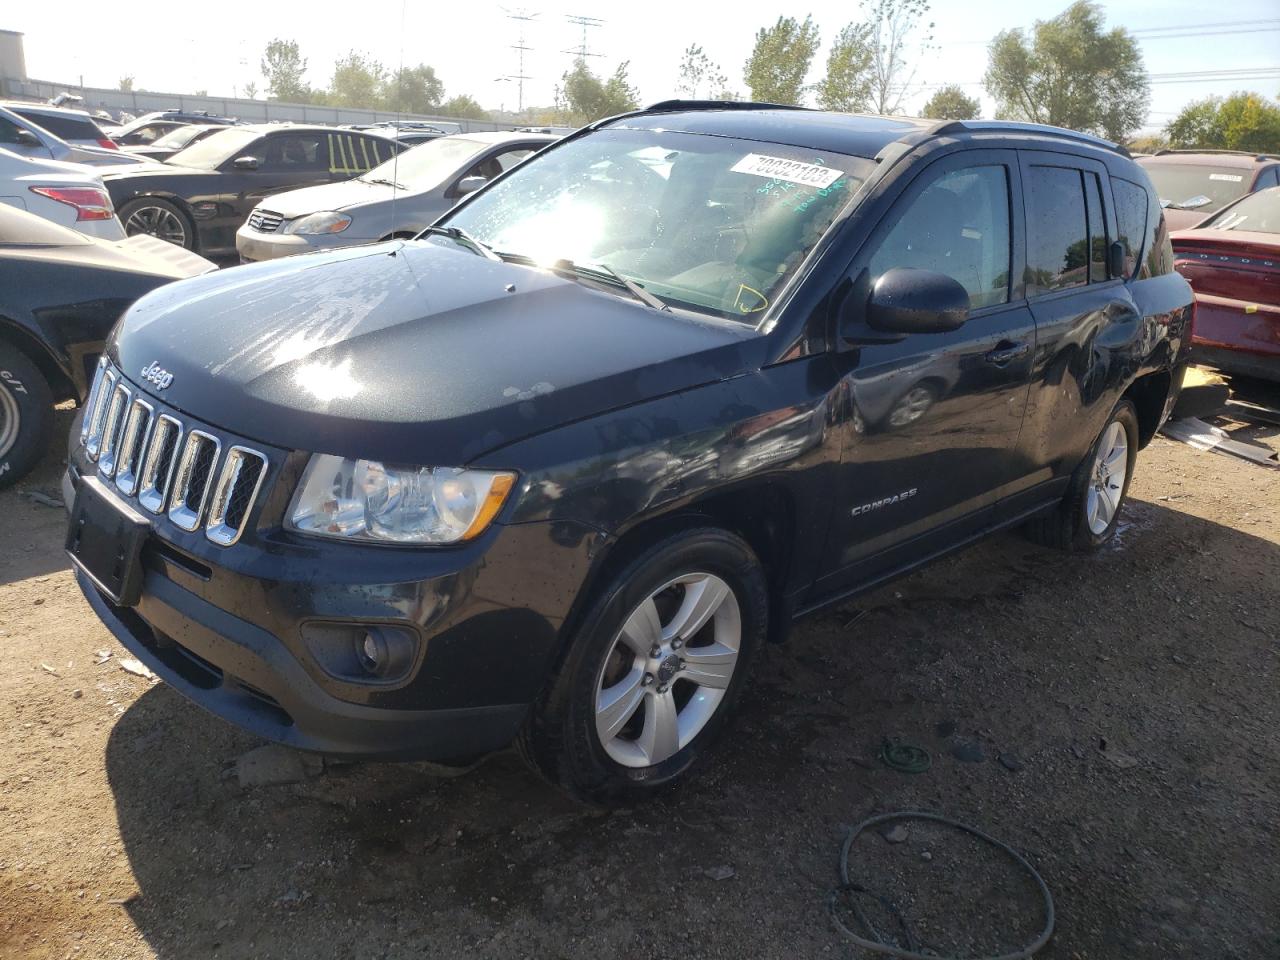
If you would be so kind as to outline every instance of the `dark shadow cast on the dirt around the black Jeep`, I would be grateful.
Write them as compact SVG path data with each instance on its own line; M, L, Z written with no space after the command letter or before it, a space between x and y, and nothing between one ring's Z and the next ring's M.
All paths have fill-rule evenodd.
M844 828L925 808L1028 852L1057 899L1053 956L1198 956L1222 936L1253 956L1276 932L1267 832L1204 824L1256 822L1256 790L1280 790L1262 663L1280 611L1242 613L1277 567L1275 543L1140 500L1087 559L993 539L800 623L699 777L617 812L511 753L452 778L329 764L241 788L233 762L260 741L155 686L106 750L124 908L164 960L819 956L841 948L823 901ZM986 762L954 759L946 724ZM1117 767L1103 736L1140 762ZM886 737L932 769L883 768ZM1016 773L995 762L1014 750ZM1206 890L1193 919L1152 906Z

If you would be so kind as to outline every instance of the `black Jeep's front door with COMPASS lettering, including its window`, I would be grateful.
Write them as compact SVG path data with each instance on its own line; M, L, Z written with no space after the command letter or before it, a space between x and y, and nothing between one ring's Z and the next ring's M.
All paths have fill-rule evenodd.
M847 417L822 594L922 559L992 522L1024 467L1036 325L1020 275L1019 172L1012 151L966 151L904 191L852 265L855 292L892 268L946 274L969 292L950 333L874 332L847 357ZM855 296L861 296L855 293ZM888 342L884 342L888 340Z

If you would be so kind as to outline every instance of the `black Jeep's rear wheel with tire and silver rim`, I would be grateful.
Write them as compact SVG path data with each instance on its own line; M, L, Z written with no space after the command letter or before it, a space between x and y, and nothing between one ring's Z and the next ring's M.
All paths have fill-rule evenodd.
M1060 550L1096 550L1106 544L1120 524L1137 458L1138 411L1124 398L1071 475L1061 503L1023 527L1027 539Z

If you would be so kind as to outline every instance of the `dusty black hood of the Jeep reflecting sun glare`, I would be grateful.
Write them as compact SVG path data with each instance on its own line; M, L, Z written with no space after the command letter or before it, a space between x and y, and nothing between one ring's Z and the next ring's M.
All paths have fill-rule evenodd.
M140 300L109 351L191 416L278 447L460 466L735 376L764 338L433 241L223 270Z

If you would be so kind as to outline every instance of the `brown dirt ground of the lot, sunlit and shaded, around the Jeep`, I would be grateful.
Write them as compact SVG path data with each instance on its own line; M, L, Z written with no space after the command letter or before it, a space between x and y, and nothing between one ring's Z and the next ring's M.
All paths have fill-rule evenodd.
M804 622L701 776L602 813L512 755L239 786L260 742L122 669L81 598L24 493L60 470L0 494L0 957L870 956L828 919L836 856L911 809L1034 864L1043 957L1280 956L1280 471L1157 439L1115 545L1001 536ZM904 826L852 863L918 942L1034 936L1014 867Z

